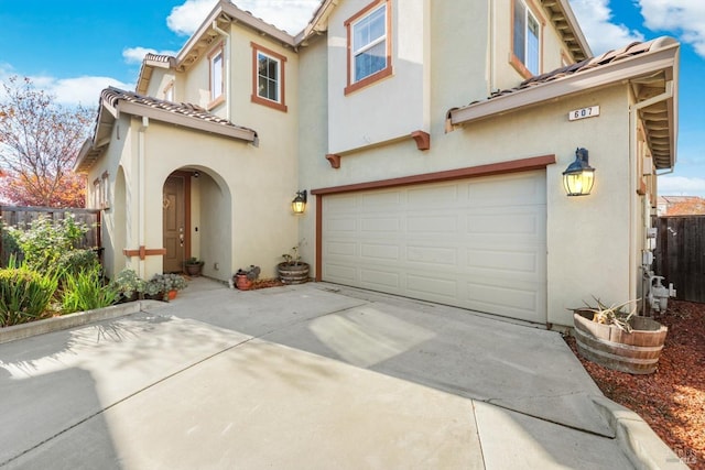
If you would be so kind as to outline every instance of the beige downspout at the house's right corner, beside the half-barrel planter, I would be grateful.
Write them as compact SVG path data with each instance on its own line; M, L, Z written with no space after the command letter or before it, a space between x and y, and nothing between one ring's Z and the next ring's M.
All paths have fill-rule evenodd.
M639 147L637 139L638 139L638 124L639 124L639 111L648 108L650 106L653 106L658 102L661 101L665 101L669 99L673 98L673 80L669 80L665 83L665 90L660 94L657 95L652 98L649 98L647 100L637 102L634 105L632 105L631 107L629 107L629 132L630 132L630 149L629 149L629 170L630 173L632 175L636 175L637 173L637 159L640 157L640 155L637 155L637 149ZM673 172L673 168L671 168L670 172ZM665 174L665 173L663 173ZM633 240L633 236L634 236L634 227L637 225L637 211L634 209L634 198L633 195L636 194L636 178L630 176L629 177L629 244L630 244L630 249L629 249L629 298L636 298L637 297L637 271L633 270L633 266L636 265L636 253L634 253L634 247L632 245L632 240ZM641 247L646 245L646 240L641 240ZM643 253L643 249L641 250ZM643 254L642 254L643 255ZM643 265L643 263L639 263L640 265ZM643 289L643 287L642 287Z

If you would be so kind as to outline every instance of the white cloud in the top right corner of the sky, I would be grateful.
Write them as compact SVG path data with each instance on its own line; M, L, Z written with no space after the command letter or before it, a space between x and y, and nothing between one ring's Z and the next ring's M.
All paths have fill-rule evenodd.
M675 32L705 57L705 2L703 0L639 0L644 25L652 31Z

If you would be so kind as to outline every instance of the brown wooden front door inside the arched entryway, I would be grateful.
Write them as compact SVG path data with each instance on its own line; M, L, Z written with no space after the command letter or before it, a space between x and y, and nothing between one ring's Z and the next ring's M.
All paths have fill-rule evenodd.
M186 205L185 205L185 177L170 176L164 183L162 206L164 237L165 273L182 272L186 255Z

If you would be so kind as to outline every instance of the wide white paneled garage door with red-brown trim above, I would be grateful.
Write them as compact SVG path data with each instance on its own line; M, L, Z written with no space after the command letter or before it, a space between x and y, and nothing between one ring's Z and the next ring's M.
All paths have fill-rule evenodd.
M545 172L325 196L322 274L545 323Z

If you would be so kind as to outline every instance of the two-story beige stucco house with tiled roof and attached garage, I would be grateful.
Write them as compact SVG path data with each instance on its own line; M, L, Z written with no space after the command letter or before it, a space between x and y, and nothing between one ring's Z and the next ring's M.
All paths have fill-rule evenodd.
M111 273L271 276L303 241L318 281L571 325L648 282L677 63L666 37L592 57L567 0L323 0L296 36L223 0L104 90L77 171Z

